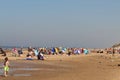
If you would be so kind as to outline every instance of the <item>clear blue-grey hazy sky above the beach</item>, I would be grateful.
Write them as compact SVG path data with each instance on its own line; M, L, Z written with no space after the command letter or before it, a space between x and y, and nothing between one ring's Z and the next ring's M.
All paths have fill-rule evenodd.
M0 0L0 45L107 48L120 42L120 0Z

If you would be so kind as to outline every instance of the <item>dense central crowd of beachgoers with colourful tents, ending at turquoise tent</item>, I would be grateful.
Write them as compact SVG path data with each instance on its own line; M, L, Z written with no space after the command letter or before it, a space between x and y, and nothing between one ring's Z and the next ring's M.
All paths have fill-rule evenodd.
M63 55L67 54L68 56L72 54L88 54L89 51L83 48L62 48L62 47L53 47L53 48L32 48L28 47L27 60L32 60L32 57L36 56L38 60L44 60L44 55Z

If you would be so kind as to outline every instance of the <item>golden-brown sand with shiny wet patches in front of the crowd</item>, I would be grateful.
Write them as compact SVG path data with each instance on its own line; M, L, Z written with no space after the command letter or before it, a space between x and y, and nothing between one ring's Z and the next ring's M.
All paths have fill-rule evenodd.
M120 55L46 55L46 60L10 57L8 77L0 80L120 80Z

